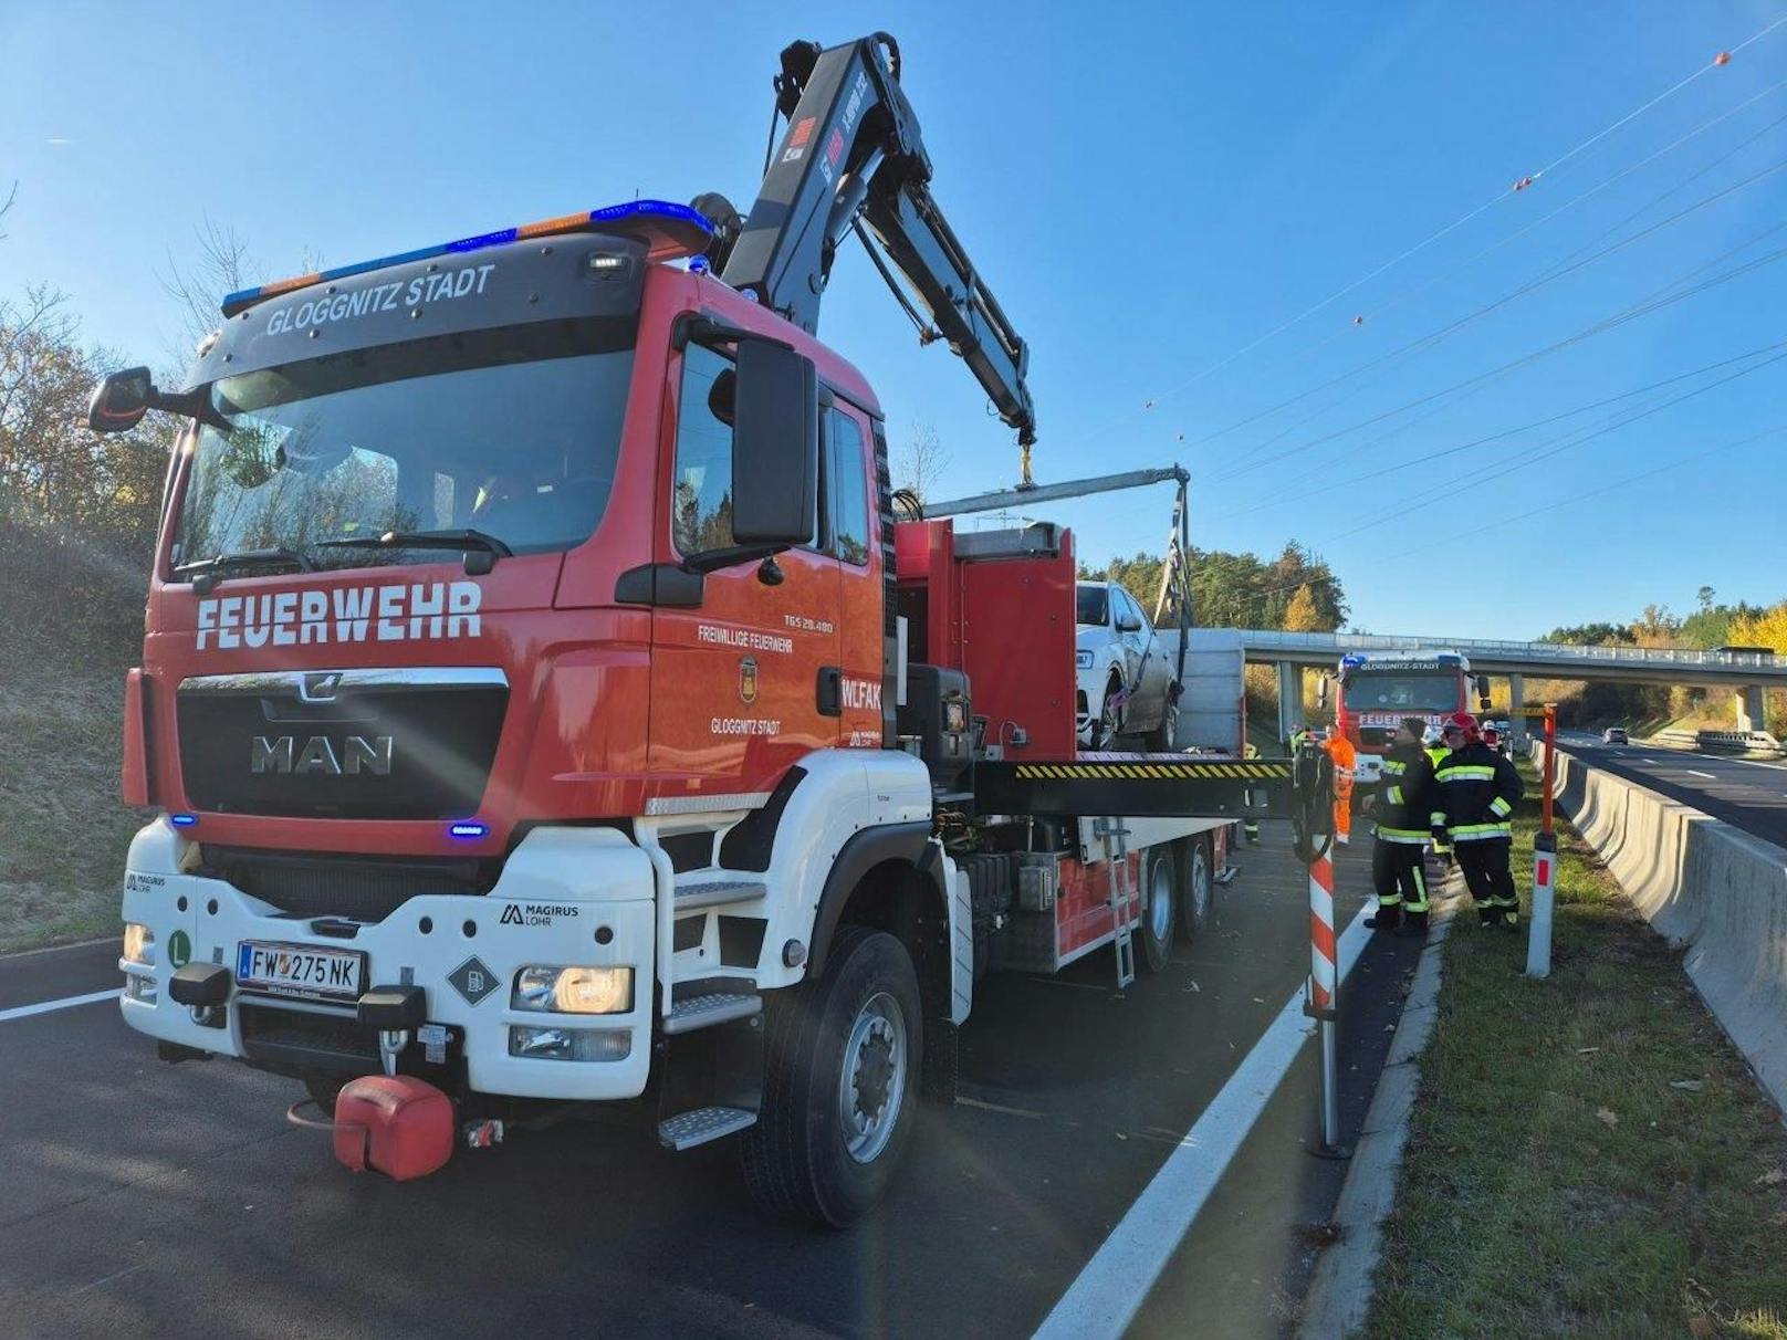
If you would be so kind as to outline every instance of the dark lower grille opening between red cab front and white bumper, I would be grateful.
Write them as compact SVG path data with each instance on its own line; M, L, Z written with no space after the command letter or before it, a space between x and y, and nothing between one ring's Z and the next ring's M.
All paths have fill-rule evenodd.
M293 917L382 922L424 893L488 893L495 861L311 856L245 847L202 847L202 874L272 902Z

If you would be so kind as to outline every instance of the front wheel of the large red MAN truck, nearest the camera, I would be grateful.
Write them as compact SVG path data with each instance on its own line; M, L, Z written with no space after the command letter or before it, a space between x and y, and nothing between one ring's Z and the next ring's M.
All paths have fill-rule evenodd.
M776 992L767 1013L745 1185L768 1210L845 1227L886 1190L911 1135L924 1056L911 956L885 931L840 927L824 976Z

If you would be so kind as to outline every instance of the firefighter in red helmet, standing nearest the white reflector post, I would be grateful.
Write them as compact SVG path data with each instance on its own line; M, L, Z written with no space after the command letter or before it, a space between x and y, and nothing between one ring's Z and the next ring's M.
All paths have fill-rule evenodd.
M1453 713L1440 731L1451 752L1433 770L1433 809L1428 815L1433 838L1455 843L1478 920L1517 931L1521 904L1514 895L1508 856L1514 847L1510 815L1526 791L1521 774L1483 743L1471 713Z

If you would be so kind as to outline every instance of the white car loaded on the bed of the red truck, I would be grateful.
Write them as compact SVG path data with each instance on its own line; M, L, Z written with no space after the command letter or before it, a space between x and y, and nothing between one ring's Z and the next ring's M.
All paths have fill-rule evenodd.
M1110 749L1128 734L1153 750L1172 749L1172 666L1142 606L1117 582L1079 582L1076 624L1079 743Z

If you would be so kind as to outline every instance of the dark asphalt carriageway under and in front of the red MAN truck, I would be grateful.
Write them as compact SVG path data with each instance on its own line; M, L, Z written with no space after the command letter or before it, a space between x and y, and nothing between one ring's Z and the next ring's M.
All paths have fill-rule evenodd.
M289 1081L163 1065L111 1002L0 1018L0 1333L1028 1335L1306 972L1306 879L1274 827L1163 974L1117 992L1101 952L990 979L960 1102L924 1113L890 1197L847 1233L767 1222L724 1142L675 1156L593 1122L420 1183L354 1177L286 1124ZM1340 924L1363 854L1340 861ZM1355 1129L1414 954L1378 936L1349 979ZM116 981L113 945L5 958L0 1011ZM1138 1335L1285 1333L1313 1261L1297 1226L1342 1176L1297 1152L1312 1086L1305 1047Z

